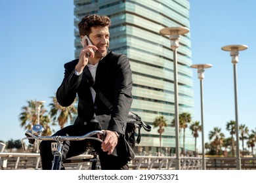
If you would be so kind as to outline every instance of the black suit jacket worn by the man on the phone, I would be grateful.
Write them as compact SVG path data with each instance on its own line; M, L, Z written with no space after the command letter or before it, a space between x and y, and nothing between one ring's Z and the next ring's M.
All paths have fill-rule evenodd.
M123 54L109 52L98 63L95 83L102 94L112 103L110 111L104 103L93 97L84 73L75 75L78 59L64 65L64 80L56 92L58 103L68 107L78 95L77 118L75 123L90 122L94 113L101 129L125 134L128 112L132 103L132 74L129 59Z

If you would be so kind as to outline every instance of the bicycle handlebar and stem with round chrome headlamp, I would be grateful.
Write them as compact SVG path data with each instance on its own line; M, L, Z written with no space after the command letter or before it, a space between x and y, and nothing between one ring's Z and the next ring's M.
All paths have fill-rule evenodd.
M105 133L103 131L95 130L91 131L85 135L82 136L41 136L44 131L44 128L42 125L34 125L32 128L32 131L28 130L26 131L26 136L23 139L21 139L22 145L24 150L25 144L24 140L25 139L34 139L36 141L56 141L52 142L52 152L53 152L53 161L52 161L52 170L60 170L61 163L62 163L62 154L63 154L63 149L64 149L64 141L83 141L85 139L93 139L99 142L103 142L101 139L98 139L96 137L92 137L93 135L100 135L101 137L104 137Z

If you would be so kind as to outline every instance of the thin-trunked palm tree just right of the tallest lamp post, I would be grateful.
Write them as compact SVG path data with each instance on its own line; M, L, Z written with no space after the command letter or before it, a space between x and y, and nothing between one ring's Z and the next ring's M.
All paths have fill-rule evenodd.
M179 114L179 128L183 129L183 156L185 156L185 130L188 124L191 122L191 115L188 112L183 112ZM175 126L175 119L171 122L171 126ZM179 130L180 130L179 129Z

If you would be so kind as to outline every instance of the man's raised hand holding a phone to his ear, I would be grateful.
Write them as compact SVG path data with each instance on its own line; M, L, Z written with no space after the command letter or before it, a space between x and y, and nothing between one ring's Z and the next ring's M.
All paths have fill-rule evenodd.
M98 48L93 45L87 35L85 35L80 42L83 46L83 49L80 52L79 61L75 66L75 71L77 71L77 73L81 73L83 71L83 68L85 68L85 65L87 65L89 61L89 57L94 58L95 51L98 50Z

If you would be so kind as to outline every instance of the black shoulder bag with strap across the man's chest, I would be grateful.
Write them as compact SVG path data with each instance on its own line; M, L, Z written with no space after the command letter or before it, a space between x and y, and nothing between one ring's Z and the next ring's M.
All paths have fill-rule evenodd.
M85 66L85 75L87 76L87 81L91 87L95 90L95 92L98 94L98 97L102 100L102 102L112 111L112 104L106 97L98 90L98 88L95 85L95 80L93 80L93 77L91 76L91 72L89 71L88 67ZM142 122L140 116L138 114L135 114L134 112L129 112L128 118L127 118L127 126L125 129L125 148L127 150L127 158L128 161L131 161L133 158L135 158L135 144L140 143L140 129L143 127L146 131L151 131L150 125L146 124L145 122ZM135 132L136 129L138 129L138 134ZM137 139L135 140L135 135L137 134Z

